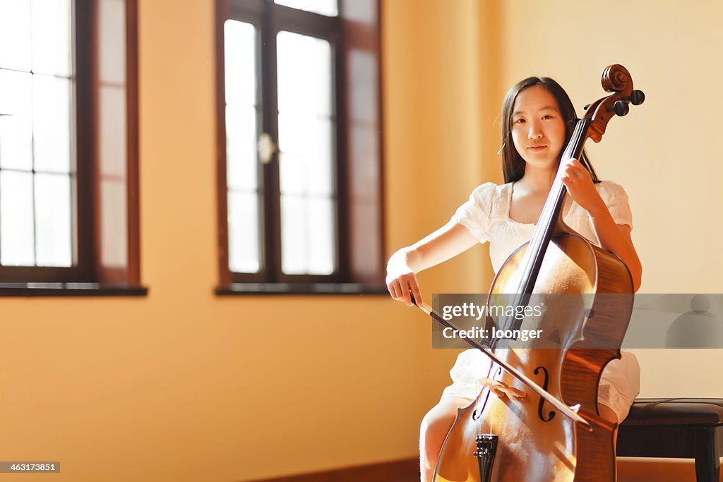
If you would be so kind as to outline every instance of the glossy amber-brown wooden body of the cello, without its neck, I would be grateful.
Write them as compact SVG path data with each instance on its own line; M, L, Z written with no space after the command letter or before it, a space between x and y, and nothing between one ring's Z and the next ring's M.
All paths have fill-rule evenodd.
M495 277L490 296L510 293L516 287L528 246L523 244L505 262ZM576 233L560 232L550 241L536 289L539 293L565 293L568 298L573 293L587 295L582 301L595 293L632 293L633 282L620 259ZM570 308L570 299L563 304ZM601 336L622 340L633 297L630 294L625 303L623 296L594 296L591 308L584 302L577 308L567 310L564 316L569 317L568 322L574 322L585 318L586 311L591 309L594 316L588 317L586 337L598 343ZM568 332L568 337L578 335ZM564 345L567 340L561 341ZM482 390L474 403L458 410L457 421L440 452L435 481L484 481L480 457L475 457L474 452L479 449L478 436L489 432L498 440L488 468L489 481L615 481L615 426L599 417L597 385L604 366L613 358L620 358L620 350L588 348L584 340L578 340L568 350L502 348L497 353L566 405L579 404L578 413L590 422L592 429L555 413L537 397L497 397L489 389ZM489 378L526 391L524 384L496 363L492 363Z

